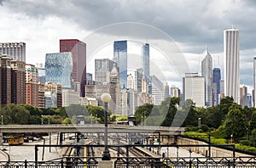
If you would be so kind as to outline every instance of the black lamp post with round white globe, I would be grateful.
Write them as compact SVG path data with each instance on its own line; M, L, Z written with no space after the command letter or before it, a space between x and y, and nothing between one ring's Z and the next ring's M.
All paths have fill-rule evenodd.
M105 132L104 132L104 146L105 150L102 154L102 160L111 160L111 156L108 150L108 102L111 96L107 92L102 94L102 102L104 103L104 114L105 114Z

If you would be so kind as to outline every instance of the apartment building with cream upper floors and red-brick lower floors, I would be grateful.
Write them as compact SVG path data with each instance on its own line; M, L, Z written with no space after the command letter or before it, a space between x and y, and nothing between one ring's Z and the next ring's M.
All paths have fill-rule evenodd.
M26 64L26 104L38 106L38 69L33 64Z

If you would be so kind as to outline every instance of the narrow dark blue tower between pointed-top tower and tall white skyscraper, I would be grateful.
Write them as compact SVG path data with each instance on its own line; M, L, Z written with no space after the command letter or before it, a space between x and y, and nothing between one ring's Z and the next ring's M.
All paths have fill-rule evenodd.
M220 94L220 69L213 68L212 70L212 87L213 87L213 105L218 105L219 102L219 94Z

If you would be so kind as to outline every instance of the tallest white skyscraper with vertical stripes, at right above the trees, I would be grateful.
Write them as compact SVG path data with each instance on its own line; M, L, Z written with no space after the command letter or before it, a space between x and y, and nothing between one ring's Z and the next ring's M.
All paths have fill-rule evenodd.
M239 31L224 30L224 95L239 103Z

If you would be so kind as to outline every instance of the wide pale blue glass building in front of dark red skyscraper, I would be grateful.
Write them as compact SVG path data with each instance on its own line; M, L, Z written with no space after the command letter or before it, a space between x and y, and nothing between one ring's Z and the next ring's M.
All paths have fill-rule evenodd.
M72 53L46 53L45 81L60 84L61 87L71 88L73 70Z

